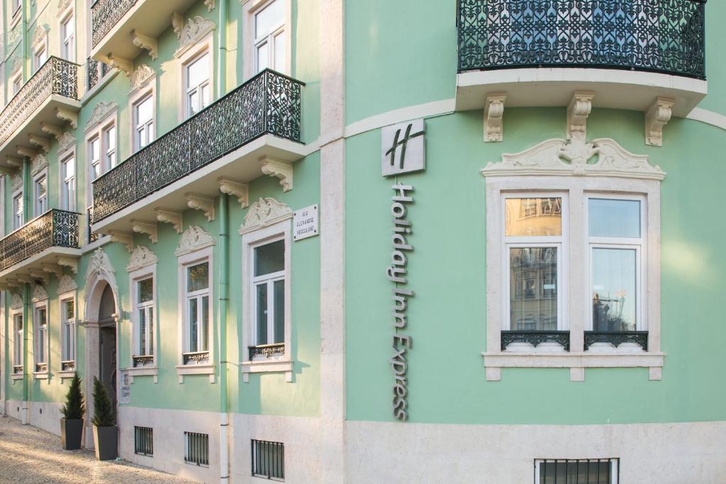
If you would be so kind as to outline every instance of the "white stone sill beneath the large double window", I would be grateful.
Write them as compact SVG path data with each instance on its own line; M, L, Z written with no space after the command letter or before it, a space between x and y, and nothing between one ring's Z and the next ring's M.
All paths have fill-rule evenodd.
M661 380L665 353L636 350L591 350L582 353L481 353L487 381L501 380L502 368L569 368L570 380L584 380L585 368L649 368L650 380Z

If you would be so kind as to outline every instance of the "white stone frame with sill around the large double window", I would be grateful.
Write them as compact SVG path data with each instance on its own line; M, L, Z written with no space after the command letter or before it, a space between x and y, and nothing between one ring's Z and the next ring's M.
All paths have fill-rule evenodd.
M485 173L486 174L486 173ZM586 197L597 194L600 198L618 195L626 198L635 195L643 197L648 211L643 223L647 228L645 249L648 259L660 260L660 181L639 178L618 178L613 176L526 176L499 175L486 176L486 352L484 366L486 380L501 379L502 368L551 367L570 369L570 379L584 380L584 369L594 367L647 367L650 380L660 380L664 354L661 353L661 314L659 298L651 297L643 301L643 318L648 328L648 351L636 353L632 350L613 349L610 351L584 351L584 331L590 319L590 268L587 236ZM568 274L566 285L567 299L563 300L565 315L569 321L570 350L562 353L518 352L507 353L501 350L502 323L502 284L507 284L509 276L502 263L502 193L542 192L568 194L569 213L567 218ZM607 196L605 196L607 194ZM642 205L643 206L643 205ZM660 266L642 264L646 275L643 277L645 294L660 294ZM504 278L504 279L503 279ZM647 287L645 287L647 284ZM561 287L561 289L565 289Z

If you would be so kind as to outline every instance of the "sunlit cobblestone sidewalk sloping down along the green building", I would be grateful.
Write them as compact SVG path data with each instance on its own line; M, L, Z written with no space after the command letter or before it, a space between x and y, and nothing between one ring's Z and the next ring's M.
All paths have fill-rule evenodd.
M99 462L93 452L63 451L60 437L0 417L0 483L192 483L126 461Z

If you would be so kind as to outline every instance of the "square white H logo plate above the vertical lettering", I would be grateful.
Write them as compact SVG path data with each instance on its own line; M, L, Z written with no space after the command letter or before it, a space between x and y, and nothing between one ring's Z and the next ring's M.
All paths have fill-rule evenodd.
M383 176L425 170L426 143L423 119L383 128L381 157Z

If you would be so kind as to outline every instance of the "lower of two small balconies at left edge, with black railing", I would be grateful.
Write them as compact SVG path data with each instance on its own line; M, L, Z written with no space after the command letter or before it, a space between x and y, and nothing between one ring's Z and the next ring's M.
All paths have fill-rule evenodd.
M52 209L0 239L0 289L78 270L79 213Z

